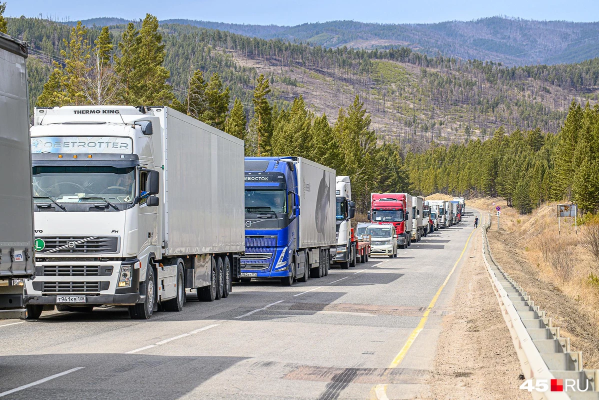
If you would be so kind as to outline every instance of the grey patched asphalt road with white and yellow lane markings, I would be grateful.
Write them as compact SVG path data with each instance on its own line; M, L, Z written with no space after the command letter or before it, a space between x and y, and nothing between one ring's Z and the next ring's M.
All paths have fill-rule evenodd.
M0 397L426 397L460 263L435 295L473 219L469 210L393 260L372 257L292 287L234 284L228 299L213 303L188 293L182 312L149 321L130 320L125 308L0 321Z

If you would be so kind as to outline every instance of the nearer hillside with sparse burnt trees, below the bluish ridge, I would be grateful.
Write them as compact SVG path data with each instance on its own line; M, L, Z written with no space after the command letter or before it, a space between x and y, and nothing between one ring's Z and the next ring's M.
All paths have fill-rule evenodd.
M41 92L49 61L59 59L68 27L41 19L8 19L9 33L28 40L41 62L30 62L32 101ZM96 21L99 22L99 21ZM124 25L111 26L113 38ZM189 25L161 25L165 66L183 93L190 65L218 72L250 111L257 74L273 84L273 101L303 95L316 113L334 121L339 107L359 94L381 137L412 148L491 137L498 127L556 133L573 98L599 98L599 59L580 64L506 68L428 58L407 47L385 51L324 49L281 40L259 40ZM90 29L93 40L98 29ZM40 53L43 52L43 53Z

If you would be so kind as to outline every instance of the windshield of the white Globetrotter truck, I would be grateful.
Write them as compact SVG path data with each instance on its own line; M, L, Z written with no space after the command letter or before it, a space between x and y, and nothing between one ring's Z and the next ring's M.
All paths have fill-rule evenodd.
M33 169L34 199L57 203L132 203L135 169L115 167L37 166Z

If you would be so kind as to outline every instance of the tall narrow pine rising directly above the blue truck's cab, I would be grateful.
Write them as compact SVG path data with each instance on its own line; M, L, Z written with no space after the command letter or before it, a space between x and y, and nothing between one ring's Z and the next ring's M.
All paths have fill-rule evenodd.
M273 154L271 139L273 137L273 109L267 96L271 89L268 79L260 74L254 89L254 116L250 120L249 140L246 141L246 154L268 156Z

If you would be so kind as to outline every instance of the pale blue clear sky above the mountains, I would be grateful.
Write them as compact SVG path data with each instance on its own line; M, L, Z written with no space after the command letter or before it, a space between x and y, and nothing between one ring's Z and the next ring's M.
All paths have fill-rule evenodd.
M196 19L259 25L356 20L379 23L430 23L505 15L523 19L599 20L599 0L2 0L6 16L52 16L59 20L95 17Z

